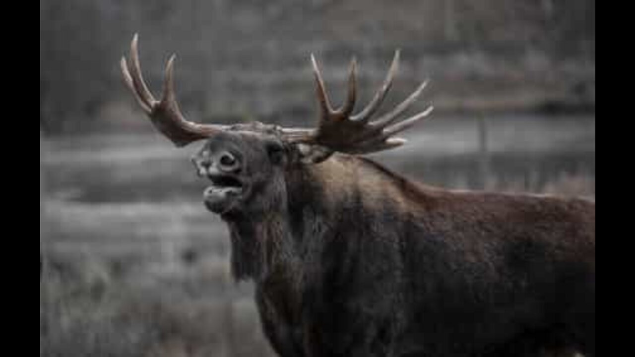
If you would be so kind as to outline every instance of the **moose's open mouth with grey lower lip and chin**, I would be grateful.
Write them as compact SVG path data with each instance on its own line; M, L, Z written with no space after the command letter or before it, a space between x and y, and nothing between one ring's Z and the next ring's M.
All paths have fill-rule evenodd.
M232 208L243 194L243 183L231 175L208 175L212 185L203 192L205 206L213 213L222 214Z

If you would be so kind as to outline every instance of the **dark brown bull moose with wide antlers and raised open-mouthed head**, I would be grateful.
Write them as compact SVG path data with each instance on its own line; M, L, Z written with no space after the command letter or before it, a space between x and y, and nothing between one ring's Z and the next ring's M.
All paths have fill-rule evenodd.
M595 203L529 194L450 191L361 156L430 112L399 120L425 82L377 119L397 71L352 114L331 107L313 57L315 129L187 121L171 57L156 100L140 71L137 36L126 84L211 181L203 194L231 236L237 280L253 280L264 333L280 356L595 356Z

